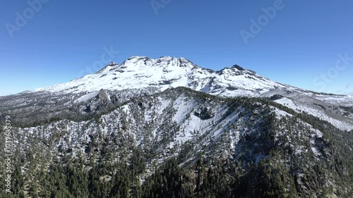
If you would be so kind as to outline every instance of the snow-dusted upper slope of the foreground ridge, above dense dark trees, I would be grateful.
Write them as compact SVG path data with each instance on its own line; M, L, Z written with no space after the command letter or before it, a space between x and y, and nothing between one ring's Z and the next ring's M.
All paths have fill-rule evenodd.
M85 95L80 99L90 101L94 97ZM289 99L279 101L291 103ZM78 163L80 170L91 170L93 164L98 164L103 167L101 170L109 170L99 172L100 177L112 178L118 173L109 168L121 168L118 164L126 163L130 166L136 159L134 154L140 153L138 163L143 166L136 178L141 182L163 162L173 159L186 168L201 158L207 167L220 163L224 170L234 171L230 175L254 175L253 171L261 170L257 167L263 163L269 167L281 163L298 192L321 197L317 190L321 187L335 187L341 194L352 188L351 183L343 180L350 178L346 167L352 167L351 163L337 162L335 154L349 154L352 139L338 139L347 133L330 125L318 130L318 125L325 124L266 99L215 97L179 87L128 101L89 120L63 119L16 128L15 147L17 153L23 154L18 159L25 161L23 178L27 183L32 182L32 174L39 172L31 171L32 167L47 170L54 163L65 167L68 162L70 166ZM0 135L4 139L4 133ZM334 144L336 140L340 144ZM333 166L336 168L329 169ZM307 171L309 167L323 171ZM196 173L194 169L192 172ZM249 180L244 179L244 183Z

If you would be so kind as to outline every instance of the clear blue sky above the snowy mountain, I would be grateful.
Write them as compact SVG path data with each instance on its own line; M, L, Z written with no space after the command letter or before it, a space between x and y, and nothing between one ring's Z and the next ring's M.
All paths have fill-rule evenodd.
M104 47L119 51L104 64L185 57L213 70L238 64L305 89L353 92L350 0L153 0L155 8L150 0L41 1L36 11L28 1L1 2L0 95L95 72ZM276 13L266 21L269 7ZM251 19L263 25L254 34ZM252 34L247 43L241 30ZM346 53L337 67L337 54Z

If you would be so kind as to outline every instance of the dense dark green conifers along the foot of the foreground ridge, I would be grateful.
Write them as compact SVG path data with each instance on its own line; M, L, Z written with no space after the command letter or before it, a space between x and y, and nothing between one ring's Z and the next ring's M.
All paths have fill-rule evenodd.
M229 163L230 161L228 161ZM299 192L297 178L274 159L253 163L249 171L235 171L234 164L207 165L198 160L189 168L181 168L177 159L170 159L155 168L150 177L138 179L139 170L127 163L119 164L114 173L107 167L83 166L49 167L40 171L37 182L25 187L16 168L13 194L1 192L1 197L133 197L133 198L216 198L216 197L320 197L332 194L332 189L322 187L320 192ZM315 177L316 168L308 178ZM16 175L17 174L17 175ZM311 180L310 182L315 182Z

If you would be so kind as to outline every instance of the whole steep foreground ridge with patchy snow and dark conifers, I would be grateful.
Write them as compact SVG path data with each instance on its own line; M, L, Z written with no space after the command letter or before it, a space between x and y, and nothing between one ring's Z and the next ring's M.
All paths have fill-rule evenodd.
M13 127L15 197L352 196L353 133L307 113L185 87L94 111L104 94L82 120Z

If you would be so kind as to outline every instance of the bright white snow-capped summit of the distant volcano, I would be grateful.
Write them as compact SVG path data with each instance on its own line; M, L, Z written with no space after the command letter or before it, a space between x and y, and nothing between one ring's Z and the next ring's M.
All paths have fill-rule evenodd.
M273 82L237 65L215 71L196 66L186 58L166 56L158 59L133 56L121 66L109 63L95 74L34 91L81 93L144 87L157 87L161 91L171 87L188 87L223 96L259 96L273 89L304 92L302 89Z

